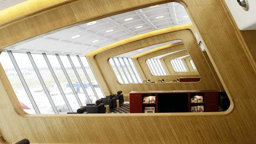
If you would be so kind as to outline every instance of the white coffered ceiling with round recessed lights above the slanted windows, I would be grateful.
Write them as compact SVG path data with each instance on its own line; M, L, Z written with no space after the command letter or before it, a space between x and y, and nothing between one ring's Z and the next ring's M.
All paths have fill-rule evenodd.
M95 22L46 33L37 39L13 45L9 50L85 55L128 37L191 21L181 4L171 2L102 18ZM78 35L80 36L77 37ZM72 38L74 36L76 38ZM135 54L136 51L129 55Z

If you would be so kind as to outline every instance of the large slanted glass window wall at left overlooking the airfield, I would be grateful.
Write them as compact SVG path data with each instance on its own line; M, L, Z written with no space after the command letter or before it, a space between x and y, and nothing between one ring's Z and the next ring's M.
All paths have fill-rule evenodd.
M0 62L29 114L75 112L104 97L85 57L8 51Z

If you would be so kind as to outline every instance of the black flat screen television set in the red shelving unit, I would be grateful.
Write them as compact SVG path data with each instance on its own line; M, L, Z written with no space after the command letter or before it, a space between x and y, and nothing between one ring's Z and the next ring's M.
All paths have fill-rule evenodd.
M158 113L188 112L187 93L158 94Z

